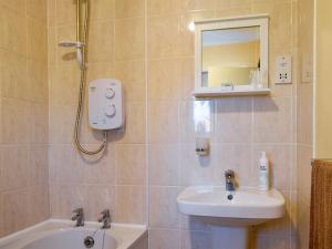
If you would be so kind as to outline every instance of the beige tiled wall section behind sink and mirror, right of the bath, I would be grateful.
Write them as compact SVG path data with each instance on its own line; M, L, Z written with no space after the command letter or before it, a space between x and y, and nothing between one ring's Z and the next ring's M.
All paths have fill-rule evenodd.
M252 248L294 248L295 90L271 84L272 97L195 102L190 21L270 14L270 66L291 54L297 70L297 1L147 1L147 138L151 248L210 248L212 228L180 215L177 194L188 185L225 184L235 169L241 186L256 186L258 158L267 151L272 185L287 199L286 218L252 230ZM294 71L295 73L295 71ZM203 107L205 106L205 107ZM211 152L195 154L195 120L210 122ZM255 239L255 237L257 239Z

